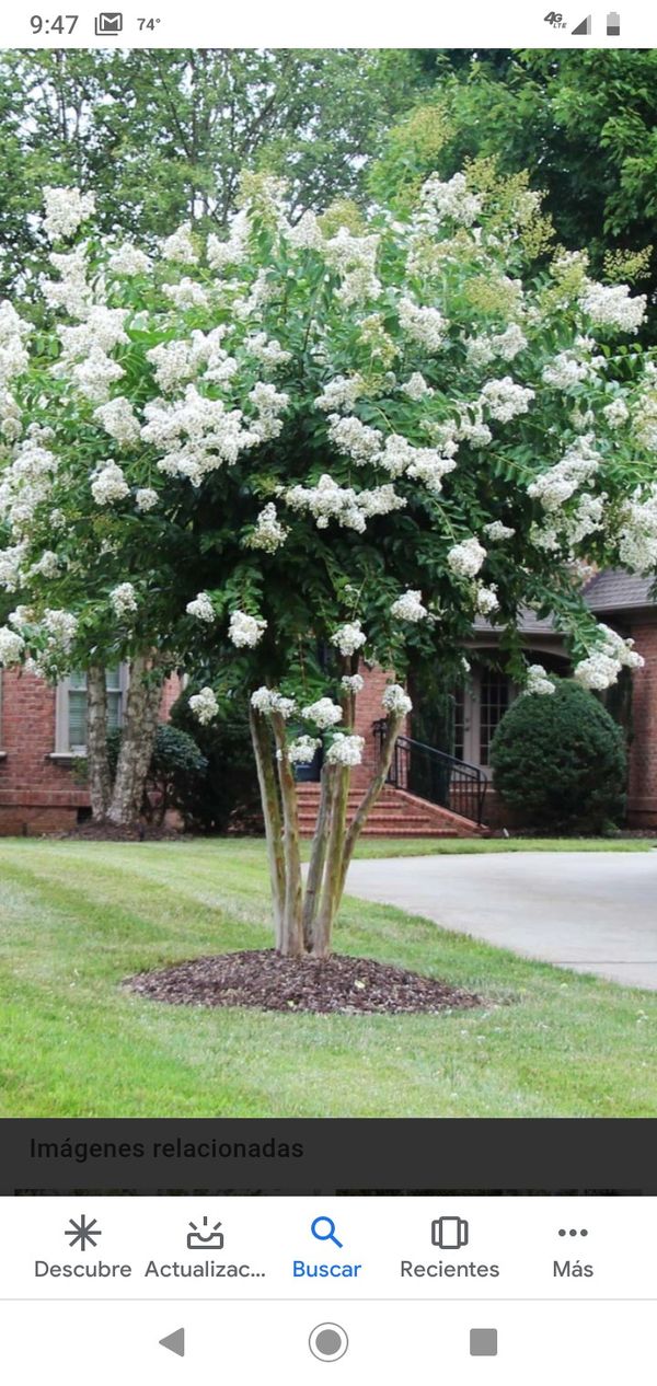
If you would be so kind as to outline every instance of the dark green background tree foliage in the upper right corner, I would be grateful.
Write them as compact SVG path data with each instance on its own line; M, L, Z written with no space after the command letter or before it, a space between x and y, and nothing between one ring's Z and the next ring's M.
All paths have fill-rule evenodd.
M657 53L654 50L430 50L431 98L398 122L371 176L380 195L413 198L434 170L468 158L528 170L568 249L593 272L654 294Z

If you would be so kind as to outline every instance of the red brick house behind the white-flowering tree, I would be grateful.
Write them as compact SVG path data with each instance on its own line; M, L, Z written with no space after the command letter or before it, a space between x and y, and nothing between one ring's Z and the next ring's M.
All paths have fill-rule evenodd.
M600 572L586 589L586 600L595 614L624 636L632 636L646 661L632 676L628 821L636 827L657 826L657 602L649 596L650 586L649 578ZM561 638L550 620L539 621L525 613L520 632L531 660L554 672L568 672ZM489 622L477 620L470 643L471 676L468 687L453 700L453 726L446 747L456 764L449 762L452 768L445 782L442 762L434 757L428 779L423 775L413 779L409 771L414 764L409 760L413 726L405 728L395 787L385 789L370 832L453 836L475 830L473 819L478 815L473 796L478 790L467 766L474 768L480 783L489 780L492 735L517 690L491 661L498 635ZM363 766L355 773L355 798L376 764L374 723L381 715L385 686L385 675L380 669L365 672L356 730L365 736L366 751ZM123 669L110 674L108 687L110 718L112 725L121 725L126 693ZM162 699L164 721L177 694L179 683L172 679ZM89 815L89 796L75 776L75 760L85 750L85 715L83 679L71 678L53 689L30 675L7 669L0 672L0 834L57 832L75 826ZM445 783L448 786L442 797L437 793L437 783L438 787L442 783L444 790ZM308 783L299 793L302 826L308 832L316 812L317 787ZM449 804L452 811L437 807L437 802ZM484 819L488 823L500 819L493 784L487 784Z

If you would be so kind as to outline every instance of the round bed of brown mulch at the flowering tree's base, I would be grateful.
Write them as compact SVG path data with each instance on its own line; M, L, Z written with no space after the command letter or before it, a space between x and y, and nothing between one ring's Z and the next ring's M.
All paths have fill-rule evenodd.
M437 1013L484 1005L445 981L389 967L373 958L281 958L244 951L194 958L129 977L125 985L152 1001L182 1006L247 1006L316 1015Z

